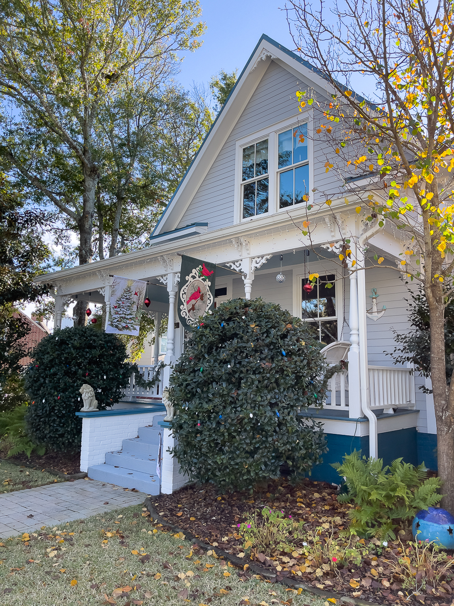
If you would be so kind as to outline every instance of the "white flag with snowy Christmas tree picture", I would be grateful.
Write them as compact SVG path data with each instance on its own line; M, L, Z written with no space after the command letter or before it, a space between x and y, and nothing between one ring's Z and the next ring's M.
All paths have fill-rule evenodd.
M105 331L116 335L139 335L146 282L113 276L110 310Z

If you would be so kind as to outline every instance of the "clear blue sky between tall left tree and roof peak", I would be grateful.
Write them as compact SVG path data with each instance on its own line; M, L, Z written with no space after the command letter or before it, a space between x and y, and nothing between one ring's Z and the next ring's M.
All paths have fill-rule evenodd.
M222 69L239 68L240 73L263 33L294 49L285 12L279 8L285 0L200 0L200 5L207 29L202 47L185 53L176 76L185 88L193 82L206 85Z

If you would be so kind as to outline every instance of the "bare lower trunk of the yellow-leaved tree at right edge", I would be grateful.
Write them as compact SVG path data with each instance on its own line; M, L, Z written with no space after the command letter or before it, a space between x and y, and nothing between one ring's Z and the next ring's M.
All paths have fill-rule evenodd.
M430 312L430 376L435 407L438 475L444 482L441 505L454 512L454 398L446 383L444 300L441 285L426 283Z

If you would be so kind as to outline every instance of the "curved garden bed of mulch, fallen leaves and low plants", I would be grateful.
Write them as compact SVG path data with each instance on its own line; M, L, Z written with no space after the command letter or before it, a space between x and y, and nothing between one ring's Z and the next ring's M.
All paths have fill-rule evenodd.
M453 602L454 569L442 570L450 556L441 554L444 562L434 562L429 546L418 566L415 544L403 531L396 541L385 544L358 537L347 544L352 505L339 503L337 488L324 482L306 479L294 487L282 479L254 496L220 494L213 485L191 485L150 500L162 519L239 556L245 564L251 560L261 564L274 573L272 580L292 578L319 590L379 604L446 606ZM268 553L254 545L245 548L239 525L263 507L282 511L287 519L292 516L292 521L300 523L300 536L288 541L289 547ZM424 582L428 571L432 580Z

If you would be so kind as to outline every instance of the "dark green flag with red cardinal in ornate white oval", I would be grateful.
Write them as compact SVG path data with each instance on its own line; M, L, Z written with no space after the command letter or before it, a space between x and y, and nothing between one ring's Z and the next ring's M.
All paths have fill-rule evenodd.
M194 330L199 317L214 307L216 265L182 255L178 316L186 330Z

